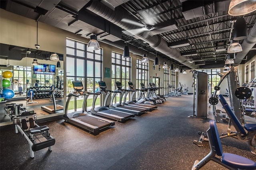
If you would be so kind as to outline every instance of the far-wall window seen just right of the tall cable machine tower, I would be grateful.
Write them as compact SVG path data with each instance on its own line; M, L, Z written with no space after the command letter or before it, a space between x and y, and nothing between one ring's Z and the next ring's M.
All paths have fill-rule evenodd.
M212 90L211 92L214 92L214 87L218 84L220 81L220 76L217 74L217 72L220 72L220 68L217 69L208 69L208 70L198 70L202 72L206 72L208 74L208 82L211 84Z

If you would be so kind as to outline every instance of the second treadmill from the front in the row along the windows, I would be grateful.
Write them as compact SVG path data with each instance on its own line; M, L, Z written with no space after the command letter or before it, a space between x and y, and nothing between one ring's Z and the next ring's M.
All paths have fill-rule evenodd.
M127 113L125 111L118 111L118 110L110 110L109 107L106 106L109 96L111 96L112 91L106 90L106 82L99 81L98 82L100 91L96 92L97 94L104 94L106 95L104 99L104 105L100 107L95 108L95 102L97 100L98 95L95 95L92 102L92 109L90 113L102 117L106 117L109 119L113 119L120 122L126 122L127 119L130 119L131 117L135 117L135 114L133 113Z

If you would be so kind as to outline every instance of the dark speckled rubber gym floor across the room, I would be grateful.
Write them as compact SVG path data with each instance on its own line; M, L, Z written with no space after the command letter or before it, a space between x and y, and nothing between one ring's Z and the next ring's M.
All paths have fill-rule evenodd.
M219 106L219 109L222 109ZM116 122L99 135L92 135L64 119L45 121L56 139L52 152L42 149L30 158L29 145L16 134L14 125L1 128L1 170L190 170L195 160L210 152L193 144L198 131L206 131L213 119L209 107L208 119L188 118L193 112L193 95L169 97L158 109L136 116L126 123ZM246 116L247 123L256 119ZM226 133L228 123L217 123L219 133ZM235 131L234 127L232 127ZM232 137L221 140L223 151L256 161L246 143ZM210 161L202 170L223 170Z

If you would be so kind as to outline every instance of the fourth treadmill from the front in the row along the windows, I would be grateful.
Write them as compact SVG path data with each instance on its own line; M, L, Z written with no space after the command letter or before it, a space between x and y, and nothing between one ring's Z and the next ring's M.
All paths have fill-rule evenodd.
M128 95L129 92L132 92L131 94L131 99L133 99L134 97L134 94L138 91L138 89L135 89L134 86L133 86L133 83L132 82L128 82L128 85L129 85L129 90L126 91L126 94L124 95L124 102L123 104L125 105L128 105L128 106L136 106L136 107L142 107L142 108L145 108L145 109L148 109L148 111L152 111L153 109L156 109L157 106L154 106L154 105L149 105L149 104L139 104L139 103L136 103L134 101L126 101L126 96Z

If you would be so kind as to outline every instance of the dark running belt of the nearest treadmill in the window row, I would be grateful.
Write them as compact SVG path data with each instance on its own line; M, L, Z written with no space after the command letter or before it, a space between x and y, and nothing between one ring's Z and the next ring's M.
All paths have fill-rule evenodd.
M97 126L97 127L99 127L99 129L102 129L102 128L110 125L110 123L107 121L103 121L103 120L100 120L100 119L97 119L94 117L90 117L88 115L77 116L77 117L74 117L74 119L78 119L84 123L88 123L90 125Z

